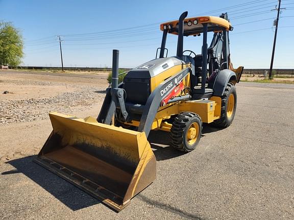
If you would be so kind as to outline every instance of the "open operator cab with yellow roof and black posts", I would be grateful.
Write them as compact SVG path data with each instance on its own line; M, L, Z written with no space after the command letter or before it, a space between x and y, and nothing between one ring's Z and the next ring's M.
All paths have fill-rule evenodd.
M229 68L229 36L233 30L227 13L214 16L186 18L184 12L179 20L160 24L163 31L159 58L164 58L167 34L178 35L177 58L191 63L191 88L193 98L207 98L213 93L213 84L219 70ZM207 46L207 33L213 32L210 46ZM192 50L183 50L184 36L203 35L202 54ZM185 54L184 54L185 53ZM187 55L186 55L187 54ZM167 54L166 54L167 56ZM208 66L208 68L207 68Z

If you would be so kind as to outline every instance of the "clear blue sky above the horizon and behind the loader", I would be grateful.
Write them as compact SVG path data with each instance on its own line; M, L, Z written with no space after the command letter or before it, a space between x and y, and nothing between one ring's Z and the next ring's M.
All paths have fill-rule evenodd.
M198 2L198 3L197 3ZM22 65L111 66L112 49L120 50L120 67L135 67L155 58L162 32L159 24L188 17L228 12L234 66L269 68L277 0L241 1L37 1L0 0L0 20L11 21L24 38ZM282 0L274 68L294 68L294 0ZM211 34L212 35L212 34ZM169 35L168 56L176 54L176 37ZM184 49L201 53L201 38L184 39Z

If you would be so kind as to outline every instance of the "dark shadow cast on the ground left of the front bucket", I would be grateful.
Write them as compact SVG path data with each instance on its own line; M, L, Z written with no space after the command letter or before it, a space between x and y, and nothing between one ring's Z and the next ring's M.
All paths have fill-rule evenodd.
M23 173L73 211L101 203L78 187L33 162L35 157L28 156L6 162L16 170L3 172L2 175Z

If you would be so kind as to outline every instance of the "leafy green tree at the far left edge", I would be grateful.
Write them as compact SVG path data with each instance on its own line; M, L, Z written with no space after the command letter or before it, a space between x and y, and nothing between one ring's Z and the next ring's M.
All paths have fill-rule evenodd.
M18 66L23 57L23 41L12 23L0 21L0 65Z

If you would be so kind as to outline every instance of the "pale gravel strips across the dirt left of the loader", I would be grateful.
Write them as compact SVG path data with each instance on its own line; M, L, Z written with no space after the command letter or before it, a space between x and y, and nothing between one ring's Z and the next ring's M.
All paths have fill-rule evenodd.
M6 81L2 81L5 83ZM7 80L16 85L64 86L64 83L35 80ZM48 112L71 113L70 107L92 105L103 101L105 88L71 85L75 92L64 92L49 98L3 100L0 105L0 125L48 118Z

